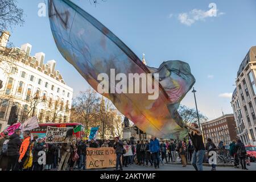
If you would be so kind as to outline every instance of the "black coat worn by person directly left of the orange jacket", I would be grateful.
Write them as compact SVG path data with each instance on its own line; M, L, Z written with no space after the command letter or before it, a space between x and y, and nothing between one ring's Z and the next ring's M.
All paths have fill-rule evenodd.
M10 140L8 142L7 155L8 156L19 156L19 148L22 142L20 140L19 135L13 134L10 136Z

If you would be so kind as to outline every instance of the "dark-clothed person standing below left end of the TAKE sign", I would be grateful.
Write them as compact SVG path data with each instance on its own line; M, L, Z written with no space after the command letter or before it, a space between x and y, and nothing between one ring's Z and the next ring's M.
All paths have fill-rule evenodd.
M44 145L43 143L43 138L38 138L35 146L33 148L33 171L42 171L43 170L43 164L39 163L39 152L40 151L44 151L44 149L46 148L46 145Z

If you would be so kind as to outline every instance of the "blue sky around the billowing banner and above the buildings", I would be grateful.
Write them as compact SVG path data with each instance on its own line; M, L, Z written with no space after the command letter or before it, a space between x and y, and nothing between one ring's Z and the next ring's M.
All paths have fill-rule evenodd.
M18 0L26 22L14 28L10 40L18 47L30 43L32 55L44 52L46 60L55 59L56 68L76 96L89 85L57 50L47 16L38 16L42 2ZM256 46L255 0L105 0L97 6L89 0L73 2L112 30L139 57L145 53L148 65L159 67L166 60L189 63L196 77L199 110L209 119L220 117L221 108L224 113L233 113L229 96L238 67L250 47ZM209 16L210 3L216 4L217 16ZM189 92L181 104L195 107L193 94Z

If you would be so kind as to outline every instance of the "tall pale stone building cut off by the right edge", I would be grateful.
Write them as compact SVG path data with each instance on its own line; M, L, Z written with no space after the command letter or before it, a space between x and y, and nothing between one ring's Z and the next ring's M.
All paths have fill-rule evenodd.
M245 144L256 145L256 46L251 47L237 72L232 107L237 135Z

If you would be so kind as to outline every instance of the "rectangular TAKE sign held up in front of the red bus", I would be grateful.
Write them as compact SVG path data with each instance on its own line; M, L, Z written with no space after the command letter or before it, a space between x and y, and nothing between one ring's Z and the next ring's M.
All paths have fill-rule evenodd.
M73 127L47 126L46 143L69 143L72 141Z

